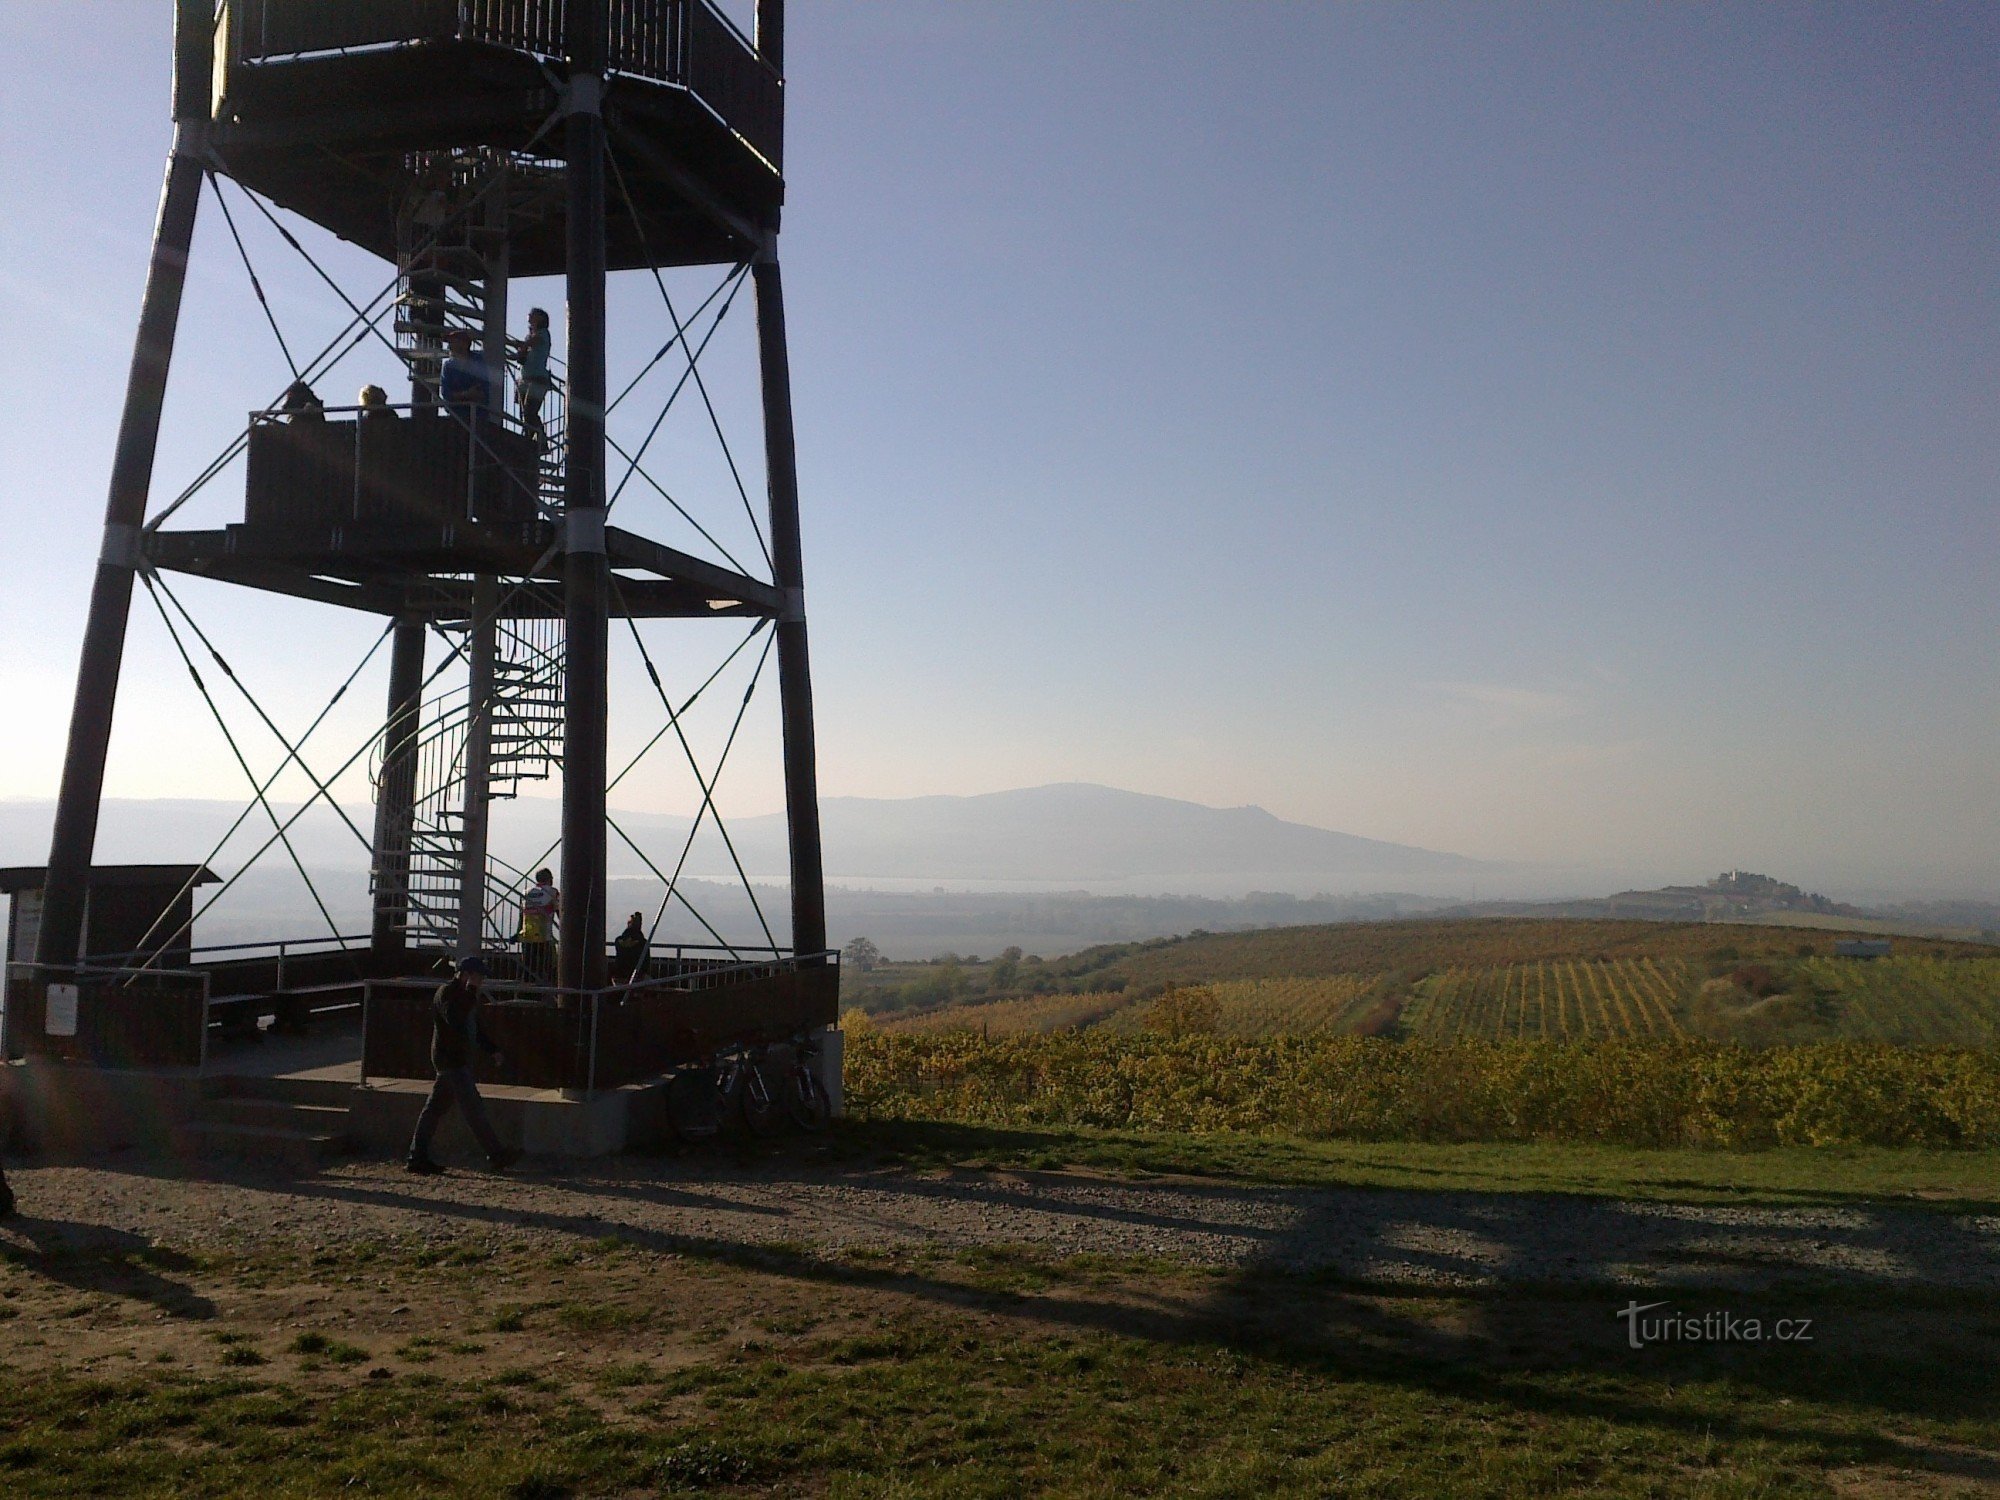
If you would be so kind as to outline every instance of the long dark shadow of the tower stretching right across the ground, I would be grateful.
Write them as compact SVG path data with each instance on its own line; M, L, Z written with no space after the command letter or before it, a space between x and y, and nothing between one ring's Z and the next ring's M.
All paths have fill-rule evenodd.
M178 1176L166 1164L120 1166ZM1910 1450L1888 1432L1938 1422L1994 1434L2000 1414L1992 1298L2000 1244L1992 1226L1932 1212L828 1172L788 1156L744 1170L706 1158L540 1178L544 1194L566 1194L560 1206L524 1206L498 1180L468 1202L400 1180L286 1178L252 1166L204 1176L306 1202L392 1210L412 1226L442 1216L486 1230L536 1230L580 1248L616 1238L752 1274L996 1312L1050 1332L1208 1346L1332 1382L1416 1388L1546 1418L1806 1442L1826 1464L1908 1460ZM448 1182L460 1192L466 1184ZM848 1238L870 1254L830 1256L780 1240L794 1220L800 1228L788 1238L816 1238L798 1206L830 1184L856 1232ZM964 1236L924 1244L918 1230L938 1198L976 1210L974 1222L994 1224L998 1244ZM646 1210L674 1210L688 1226L648 1224ZM738 1214L746 1216L742 1232L716 1228ZM34 1218L16 1226L18 1234L0 1232L0 1254L24 1270L176 1310L192 1298L160 1274L158 1252L138 1236ZM1008 1230L1022 1226L1058 1232L1020 1246ZM1164 1264L1172 1256L1148 1260L1152 1240L1174 1236L1224 1246L1230 1264L1200 1272ZM96 1258L78 1258L78 1246L98 1246ZM1076 1258L1074 1250L1096 1254ZM1404 1280L1386 1280L1390 1272ZM124 1282L112 1284L116 1276ZM1410 1276L1432 1284L1410 1284ZM1466 1284L1472 1278L1490 1284ZM1688 1318L1810 1318L1812 1328L1792 1342L1632 1348L1618 1316L1628 1302L1666 1304L1664 1312ZM1674 1394L1700 1386L1714 1396ZM1784 1402L1800 1404L1800 1414L1788 1416ZM1974 1444L1986 1446L1984 1436ZM1942 1454L1938 1464L2000 1478L1978 1450Z

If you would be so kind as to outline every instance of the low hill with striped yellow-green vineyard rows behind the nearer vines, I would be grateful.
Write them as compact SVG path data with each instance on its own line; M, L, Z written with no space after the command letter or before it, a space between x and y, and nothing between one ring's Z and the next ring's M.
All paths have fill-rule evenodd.
M1356 922L1100 948L1060 966L902 964L858 976L848 1000L882 1030L988 1036L1194 1024L1244 1038L2000 1044L1990 946L1900 938L1876 960L1832 946L1742 924ZM1190 1022L1196 1010L1208 1020Z

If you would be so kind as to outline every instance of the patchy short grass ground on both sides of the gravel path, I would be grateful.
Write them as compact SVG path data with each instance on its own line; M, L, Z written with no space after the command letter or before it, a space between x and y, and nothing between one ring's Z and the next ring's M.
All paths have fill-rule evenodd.
M1006 1140L844 1142L922 1166ZM1718 1158L1068 1134L1272 1178L1954 1196L1964 1154ZM1230 1166L1232 1152L1242 1152ZM942 1158L940 1158L942 1160ZM1748 1166L1742 1166L1748 1162ZM8 1496L1920 1496L2000 1476L1986 1294L1646 1288L1794 1344L1634 1350L1608 1286L1388 1288L1014 1246L194 1256L0 1232Z

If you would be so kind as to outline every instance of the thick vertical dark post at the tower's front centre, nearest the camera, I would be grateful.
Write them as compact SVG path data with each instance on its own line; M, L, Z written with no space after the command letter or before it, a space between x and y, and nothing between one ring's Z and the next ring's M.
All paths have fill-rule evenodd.
M564 446L562 946L564 988L606 984L604 780L610 696L604 554L604 10L568 8L568 426Z

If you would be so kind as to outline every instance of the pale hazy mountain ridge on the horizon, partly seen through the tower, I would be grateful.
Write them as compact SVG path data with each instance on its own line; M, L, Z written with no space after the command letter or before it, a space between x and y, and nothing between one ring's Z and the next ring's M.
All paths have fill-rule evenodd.
M226 802L106 802L100 860L194 860L228 828ZM40 864L48 848L48 802L0 802L0 864ZM350 816L364 832L366 810ZM616 812L618 824L656 860L672 864L688 822ZM512 862L536 858L556 838L560 806L522 798L494 808L494 850ZM1132 892L1242 894L1254 888L1464 892L1498 866L1456 854L1384 844L1274 818L1262 808L1208 808L1110 786L1058 784L986 796L858 798L820 804L826 874L832 880L982 882ZM258 842L262 814L246 824ZM366 868L366 852L324 808L300 824L308 866ZM758 878L788 868L784 818L730 822L736 852ZM254 844L252 844L254 848ZM248 850L244 850L248 852ZM274 850L282 860L282 850ZM266 856L270 858L270 856ZM612 874L642 866L614 840ZM730 872L718 840L696 842L688 874Z

